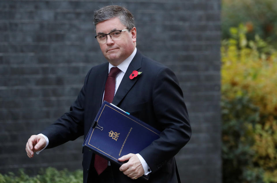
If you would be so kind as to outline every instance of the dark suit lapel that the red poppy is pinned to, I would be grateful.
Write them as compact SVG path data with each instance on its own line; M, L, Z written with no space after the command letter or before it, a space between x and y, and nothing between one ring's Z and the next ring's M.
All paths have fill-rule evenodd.
M136 55L131 61L130 65L126 73L123 76L123 79L116 91L116 94L113 98L113 104L118 105L121 100L126 96L128 91L132 88L132 86L136 83L139 77L135 77L134 79L130 79L129 76L134 70L139 70L141 68L142 54L137 50Z

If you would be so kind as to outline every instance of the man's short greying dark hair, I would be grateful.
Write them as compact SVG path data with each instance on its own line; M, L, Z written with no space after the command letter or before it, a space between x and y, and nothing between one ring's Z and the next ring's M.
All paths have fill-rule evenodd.
M120 22L129 30L135 27L134 16L129 10L121 6L110 5L100 8L99 10L94 12L94 28L99 22L103 22L104 20L108 20L114 17L118 17Z

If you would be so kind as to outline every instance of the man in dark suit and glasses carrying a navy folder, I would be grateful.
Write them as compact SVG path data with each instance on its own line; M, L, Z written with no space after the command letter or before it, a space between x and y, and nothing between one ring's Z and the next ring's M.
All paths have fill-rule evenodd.
M121 167L102 157L99 159L84 148L84 182L145 182L137 179L144 174L150 175L148 182L151 183L180 182L174 156L189 141L191 128L175 74L136 49L134 17L126 8L101 8L95 12L94 24L96 39L108 63L89 70L68 113L41 134L30 137L27 155L31 158L45 147L52 148L81 135L85 138L105 93L110 92L107 78L112 77L115 80L112 103L160 130L160 138L138 154L119 158L119 161L128 161ZM117 72L111 76L114 70Z

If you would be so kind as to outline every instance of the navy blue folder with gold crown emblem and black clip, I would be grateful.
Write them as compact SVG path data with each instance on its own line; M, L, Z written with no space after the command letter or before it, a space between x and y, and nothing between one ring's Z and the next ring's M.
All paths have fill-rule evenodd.
M104 101L83 146L122 165L123 162L118 161L118 158L129 153L139 153L159 137L160 131ZM148 176L142 178L148 179Z

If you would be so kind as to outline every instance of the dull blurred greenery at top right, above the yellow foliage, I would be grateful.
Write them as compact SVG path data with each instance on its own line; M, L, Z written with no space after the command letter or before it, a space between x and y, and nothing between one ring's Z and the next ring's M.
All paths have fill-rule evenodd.
M230 38L230 27L244 23L248 40L259 35L277 46L276 0L222 0L222 38Z

